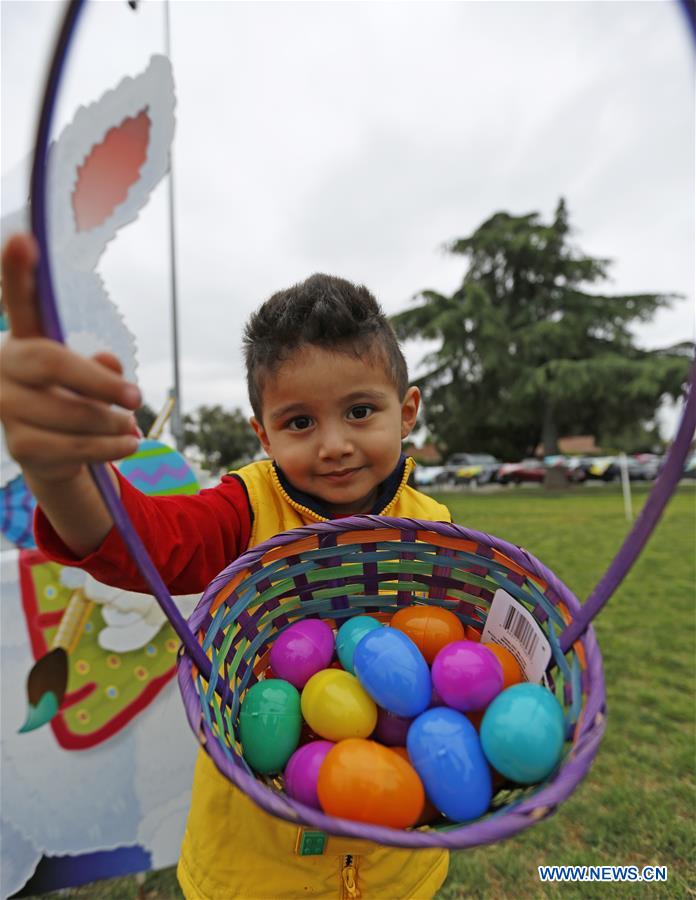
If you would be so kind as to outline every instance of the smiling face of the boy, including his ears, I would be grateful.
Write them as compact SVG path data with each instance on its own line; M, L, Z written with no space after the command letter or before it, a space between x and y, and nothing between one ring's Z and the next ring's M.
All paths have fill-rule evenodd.
M306 345L267 377L262 404L251 426L268 456L333 515L352 515L370 512L399 461L420 392L401 401L382 361Z

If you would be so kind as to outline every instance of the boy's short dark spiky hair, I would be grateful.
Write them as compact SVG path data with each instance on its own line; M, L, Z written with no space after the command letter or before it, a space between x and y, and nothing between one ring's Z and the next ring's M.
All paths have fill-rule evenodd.
M278 291L252 314L244 329L249 400L261 419L263 379L303 344L384 361L399 397L408 370L396 335L368 289L334 275L311 275Z

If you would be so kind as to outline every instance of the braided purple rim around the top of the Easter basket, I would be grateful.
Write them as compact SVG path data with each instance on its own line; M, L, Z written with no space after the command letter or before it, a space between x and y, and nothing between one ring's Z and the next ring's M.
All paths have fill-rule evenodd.
M290 546L303 538L317 537L319 544L331 546L338 536L348 532L369 532L392 529L395 540L415 540L418 532L430 532L444 538L473 542L482 555L498 551L529 575L547 585L546 596L555 604L563 604L574 618L581 604L573 592L533 554L501 538L475 531L451 522L432 522L386 516L350 516L331 522L305 525L264 541L247 550L223 569L210 583L189 618L189 627L198 634L210 616L210 608L219 592L232 578L256 567L270 550ZM356 541L359 543L359 541ZM605 728L605 687L602 657L594 630L589 627L579 639L585 654L583 673L584 704L582 717L576 727L573 746L553 779L533 795L502 808L487 817L469 824L445 830L403 831L362 822L338 819L305 806L280 794L259 781L241 762L231 759L219 745L201 711L201 698L194 682L194 660L182 647L177 662L177 678L189 724L210 755L218 770L267 812L297 825L309 826L329 834L373 841L394 847L449 849L473 847L492 843L533 825L550 815L575 790L589 771L599 749ZM235 754L236 755L236 754Z

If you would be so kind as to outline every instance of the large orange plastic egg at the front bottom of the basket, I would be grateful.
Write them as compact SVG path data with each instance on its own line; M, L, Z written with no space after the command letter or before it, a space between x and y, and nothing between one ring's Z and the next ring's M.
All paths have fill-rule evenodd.
M350 739L329 750L317 792L330 816L390 828L414 825L425 804L413 766L375 741Z

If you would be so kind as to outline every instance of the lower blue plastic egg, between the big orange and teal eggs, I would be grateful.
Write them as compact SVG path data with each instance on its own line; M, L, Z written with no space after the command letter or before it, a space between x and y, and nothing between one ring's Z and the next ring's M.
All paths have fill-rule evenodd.
M488 809L491 773L476 729L463 713L429 709L411 725L408 755L426 793L454 822L477 819Z

